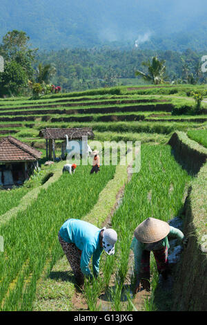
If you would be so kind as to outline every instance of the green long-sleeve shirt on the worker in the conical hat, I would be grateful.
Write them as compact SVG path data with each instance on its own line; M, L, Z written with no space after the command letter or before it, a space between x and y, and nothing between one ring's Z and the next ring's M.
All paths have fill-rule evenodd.
M179 241L182 241L184 239L184 234L181 232L181 230L174 228L170 226L170 232L168 233L169 237L176 237L179 239ZM141 243L141 241L138 241L135 237L132 239L132 243L130 248L133 250L135 254L135 274L139 275L140 265L141 265L141 255L143 250L159 250L162 247L170 247L168 243L168 236L166 236L164 239L161 239L161 241L157 241L156 243Z

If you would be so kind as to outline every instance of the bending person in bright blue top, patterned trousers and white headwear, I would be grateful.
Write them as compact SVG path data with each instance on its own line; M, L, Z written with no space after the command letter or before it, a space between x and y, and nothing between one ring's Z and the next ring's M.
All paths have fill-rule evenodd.
M59 242L75 275L78 286L83 286L84 276L91 279L88 268L92 257L94 277L99 275L99 260L103 249L108 255L115 254L117 232L112 229L97 228L79 219L68 219L59 230Z

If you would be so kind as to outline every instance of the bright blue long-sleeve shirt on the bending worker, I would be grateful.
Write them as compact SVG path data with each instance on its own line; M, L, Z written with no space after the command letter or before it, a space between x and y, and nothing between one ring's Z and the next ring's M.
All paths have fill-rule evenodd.
M67 243L75 243L81 253L81 271L86 277L91 273L88 268L92 257L92 269L95 277L99 274L99 261L103 248L99 243L99 233L101 229L95 225L79 219L68 219L59 230L61 238Z

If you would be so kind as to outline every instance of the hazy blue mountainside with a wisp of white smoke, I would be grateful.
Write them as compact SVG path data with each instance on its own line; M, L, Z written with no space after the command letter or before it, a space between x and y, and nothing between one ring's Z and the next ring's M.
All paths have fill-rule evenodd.
M41 49L207 50L204 0L1 0L0 9L0 39L24 30Z

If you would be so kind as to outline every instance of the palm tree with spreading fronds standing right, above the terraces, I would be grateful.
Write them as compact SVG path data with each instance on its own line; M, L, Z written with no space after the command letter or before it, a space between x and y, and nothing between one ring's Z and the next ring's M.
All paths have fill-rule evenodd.
M135 75L141 76L144 80L152 82L152 84L161 84L166 79L166 66L165 61L157 58L157 56L152 57L152 63L150 60L148 62L142 62L143 66L148 67L148 74L141 71L135 71Z

